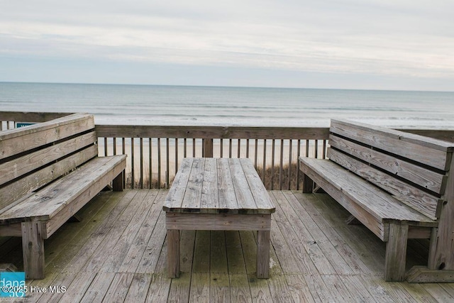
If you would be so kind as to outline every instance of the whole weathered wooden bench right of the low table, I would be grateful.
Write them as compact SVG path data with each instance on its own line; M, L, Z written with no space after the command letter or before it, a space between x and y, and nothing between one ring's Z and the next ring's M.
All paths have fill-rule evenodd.
M454 281L454 144L332 120L329 145L329 160L299 158L303 192L315 182L387 243L385 280L404 280L408 238L428 238L407 280Z

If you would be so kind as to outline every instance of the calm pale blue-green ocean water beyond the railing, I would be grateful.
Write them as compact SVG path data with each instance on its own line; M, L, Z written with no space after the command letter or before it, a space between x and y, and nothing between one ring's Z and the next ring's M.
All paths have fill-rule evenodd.
M454 92L0 82L0 111L87 112L96 123L328 126L353 119L454 129Z

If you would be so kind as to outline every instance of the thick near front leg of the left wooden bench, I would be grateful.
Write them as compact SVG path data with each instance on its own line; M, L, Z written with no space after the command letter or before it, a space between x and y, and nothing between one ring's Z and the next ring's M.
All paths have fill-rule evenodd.
M42 222L22 223L23 270L27 279L44 279L44 239Z

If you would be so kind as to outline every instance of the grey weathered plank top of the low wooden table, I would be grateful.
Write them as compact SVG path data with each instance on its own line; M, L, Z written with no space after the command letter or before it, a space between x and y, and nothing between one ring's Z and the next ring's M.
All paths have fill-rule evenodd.
M275 206L250 159L186 158L162 209L202 214L271 214Z

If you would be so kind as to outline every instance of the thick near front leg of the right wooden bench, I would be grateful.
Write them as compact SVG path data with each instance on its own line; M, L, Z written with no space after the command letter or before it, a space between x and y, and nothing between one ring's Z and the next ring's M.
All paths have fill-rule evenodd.
M384 259L385 281L404 280L408 234L408 225L389 224L389 239Z

